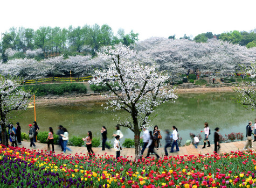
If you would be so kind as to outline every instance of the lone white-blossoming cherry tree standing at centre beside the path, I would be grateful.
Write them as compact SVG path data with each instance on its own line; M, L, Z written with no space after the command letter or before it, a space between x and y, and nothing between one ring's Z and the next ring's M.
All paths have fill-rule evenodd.
M91 83L107 85L110 93L105 97L112 98L108 100L108 107L130 114L127 119L119 120L119 125L134 132L137 160L140 157L140 133L148 127L150 114L167 100L175 102L177 96L173 89L165 89L166 74L157 71L154 64L143 65L143 59L137 61L135 55L133 50L124 46L105 48L99 56L105 61L111 60L112 64L107 70L95 70L96 78ZM119 88L121 93L117 91Z

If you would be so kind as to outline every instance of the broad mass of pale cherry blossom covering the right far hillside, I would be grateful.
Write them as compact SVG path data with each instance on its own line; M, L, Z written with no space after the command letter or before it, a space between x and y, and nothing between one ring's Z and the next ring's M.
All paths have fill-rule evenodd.
M156 63L157 69L167 70L173 77L188 69L218 75L233 74L240 64L249 65L256 60L256 49L216 39L197 43L185 39L150 38L138 42L134 48L147 56L148 64Z

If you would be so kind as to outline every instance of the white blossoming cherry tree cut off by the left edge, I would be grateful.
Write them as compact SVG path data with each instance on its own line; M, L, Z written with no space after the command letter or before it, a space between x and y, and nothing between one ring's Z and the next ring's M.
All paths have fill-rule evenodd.
M0 125L2 128L2 143L6 145L5 127L10 117L10 112L19 109L26 109L29 100L29 92L18 88L20 81L16 78L9 78L0 75Z

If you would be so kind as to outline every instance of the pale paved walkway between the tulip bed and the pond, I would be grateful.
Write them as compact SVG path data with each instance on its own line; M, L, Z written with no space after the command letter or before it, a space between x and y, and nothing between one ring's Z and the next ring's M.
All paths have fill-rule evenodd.
M219 153L222 152L229 152L229 151L236 151L236 150L240 150L244 148L246 141L238 141L238 142L229 142L229 143L221 143L220 144L220 150ZM256 148L256 142L252 142L253 143L253 148ZM47 150L47 144L45 143L36 143L36 146L38 150L43 149L44 152L46 152L45 150ZM28 141L22 141L22 144L19 145L19 147L25 147L25 148L31 148L30 147L30 142ZM55 151L56 154L61 154L61 149L60 146L58 145L54 145L55 147ZM87 154L87 149L86 147L74 147L74 146L68 146L69 148L72 149L71 153L64 154L64 155L68 155L68 154L72 154L72 155L84 155ZM214 144L211 145L211 147L206 147L204 149L202 149L202 145L198 146L198 149L196 149L194 146L192 146L192 144L190 146L184 146L184 147L179 147L179 152L174 152L174 153L169 153L169 156L177 156L177 155L199 155L199 154L211 154L213 153L214 150ZM51 146L50 146L51 148ZM33 149L33 148L31 148ZM174 149L175 150L175 149ZM101 148L93 148L93 151L95 153L96 156L98 155L113 155L116 156L116 151L114 150L114 148L111 149L106 149L105 151L102 151ZM170 151L170 148L168 148L168 151ZM164 148L159 148L159 150L155 149L155 152L160 155L160 157L164 156ZM144 151L144 155L147 155L147 149ZM121 156L133 156L135 157L135 152L133 148L123 148L121 151ZM153 156L153 155L150 155ZM154 155L155 156L155 155Z

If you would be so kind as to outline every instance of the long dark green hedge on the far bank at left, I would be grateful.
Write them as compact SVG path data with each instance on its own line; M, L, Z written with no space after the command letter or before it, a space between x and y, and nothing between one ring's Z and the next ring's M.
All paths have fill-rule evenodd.
M45 95L63 95L65 92L86 93L87 89L84 84L79 83L63 83L63 84L36 84L23 85L24 90L35 93L36 96Z

